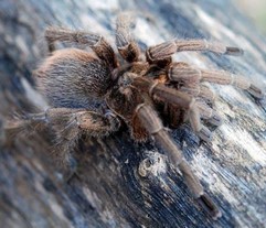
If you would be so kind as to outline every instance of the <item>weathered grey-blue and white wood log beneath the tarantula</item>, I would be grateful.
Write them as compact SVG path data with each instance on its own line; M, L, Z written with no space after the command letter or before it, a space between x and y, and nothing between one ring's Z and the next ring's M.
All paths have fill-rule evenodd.
M78 177L68 183L51 156L46 134L7 139L2 121L45 104L31 72L45 57L47 25L85 29L114 43L119 11L137 14L141 47L173 36L209 39L245 50L243 57L181 53L203 68L222 68L266 87L266 42L231 1L31 1L0 2L0 226L1 227L265 227L265 104L231 86L213 86L224 124L211 144L189 126L171 132L221 207L214 221L193 200L179 173L153 143L137 144L127 129L103 140L81 141ZM41 41L41 42L40 42ZM43 43L43 44L42 44ZM146 176L146 177L143 177Z

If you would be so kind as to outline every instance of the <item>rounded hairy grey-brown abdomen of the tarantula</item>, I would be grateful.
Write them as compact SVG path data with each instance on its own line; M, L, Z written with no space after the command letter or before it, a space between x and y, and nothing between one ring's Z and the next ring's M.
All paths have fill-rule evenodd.
M35 70L39 90L53 107L88 108L106 94L110 68L94 53L60 50Z

